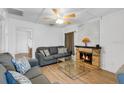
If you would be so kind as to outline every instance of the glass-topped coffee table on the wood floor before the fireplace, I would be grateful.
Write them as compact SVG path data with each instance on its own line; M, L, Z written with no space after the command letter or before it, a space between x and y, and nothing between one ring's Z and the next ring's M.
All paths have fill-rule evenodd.
M77 79L90 71L82 61L74 61L72 59L64 60L64 58L58 59L58 61L59 60L62 62L57 63L58 69L71 79Z

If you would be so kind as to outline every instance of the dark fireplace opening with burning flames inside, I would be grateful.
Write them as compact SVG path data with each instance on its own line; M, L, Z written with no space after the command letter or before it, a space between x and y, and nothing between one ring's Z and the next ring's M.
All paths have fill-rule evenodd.
M92 53L87 53L87 52L80 52L80 59L83 62L92 64Z

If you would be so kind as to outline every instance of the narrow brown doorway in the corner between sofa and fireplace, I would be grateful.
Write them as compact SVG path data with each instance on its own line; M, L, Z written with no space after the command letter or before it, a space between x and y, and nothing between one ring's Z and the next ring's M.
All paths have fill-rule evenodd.
M74 32L65 33L65 47L74 55Z

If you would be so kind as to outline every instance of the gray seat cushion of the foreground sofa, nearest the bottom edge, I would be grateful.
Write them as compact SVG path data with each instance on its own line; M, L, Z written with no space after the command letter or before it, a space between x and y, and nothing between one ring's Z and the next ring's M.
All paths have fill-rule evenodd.
M50 81L44 75L40 75L31 79L31 82L33 84L50 84Z

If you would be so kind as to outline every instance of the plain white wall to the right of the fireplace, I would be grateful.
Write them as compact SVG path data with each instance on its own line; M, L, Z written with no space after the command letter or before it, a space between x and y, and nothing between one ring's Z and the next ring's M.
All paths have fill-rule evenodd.
M124 64L124 12L103 17L100 29L102 68L116 72Z

